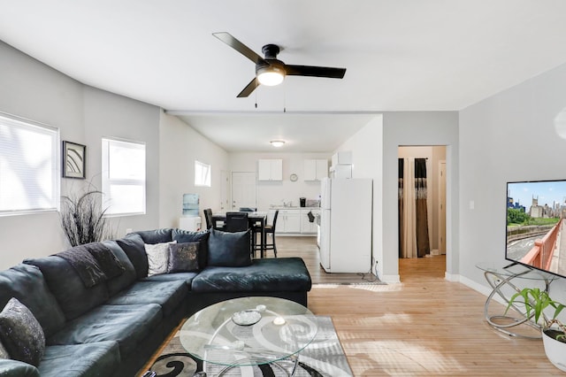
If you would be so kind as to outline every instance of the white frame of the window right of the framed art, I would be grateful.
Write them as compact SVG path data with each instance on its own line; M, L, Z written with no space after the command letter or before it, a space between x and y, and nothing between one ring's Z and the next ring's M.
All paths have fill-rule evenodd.
M143 178L111 178L111 144L123 144L131 147L137 146L143 149ZM134 149L134 148L133 148ZM115 137L102 138L102 186L103 186L103 210L105 211L104 217L122 217L122 216L135 216L144 215L147 211L147 150L145 142L137 142L126 139L119 139ZM136 186L142 188L142 210L141 211L127 211L127 212L112 212L111 208L111 186Z

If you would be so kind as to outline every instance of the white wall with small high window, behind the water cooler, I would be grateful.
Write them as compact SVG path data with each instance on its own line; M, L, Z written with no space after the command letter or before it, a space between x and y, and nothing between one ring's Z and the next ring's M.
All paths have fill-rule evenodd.
M199 214L204 227L203 209L220 210L220 173L228 171L225 150L197 133L187 123L161 112L159 126L160 227L179 227L183 194L199 195ZM195 159L210 164L210 188L195 187Z

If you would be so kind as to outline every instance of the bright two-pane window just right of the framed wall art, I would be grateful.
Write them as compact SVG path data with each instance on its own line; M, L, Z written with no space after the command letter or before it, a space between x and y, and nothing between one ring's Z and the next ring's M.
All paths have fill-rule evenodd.
M145 144L103 138L106 215L145 213Z

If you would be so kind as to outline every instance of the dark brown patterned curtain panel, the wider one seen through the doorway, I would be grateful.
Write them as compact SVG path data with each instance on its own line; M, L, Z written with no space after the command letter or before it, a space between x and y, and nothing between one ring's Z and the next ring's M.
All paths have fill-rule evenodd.
M426 208L426 158L415 158L415 199L417 204L417 255L431 253L428 239L428 215Z

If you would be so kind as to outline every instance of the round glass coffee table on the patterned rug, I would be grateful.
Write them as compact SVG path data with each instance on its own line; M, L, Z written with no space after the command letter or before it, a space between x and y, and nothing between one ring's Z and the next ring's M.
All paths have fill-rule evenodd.
M188 353L221 376L234 367L271 364L294 375L299 353L317 335L317 318L301 304L277 297L234 298L196 312L180 329ZM281 365L293 362L291 372Z

